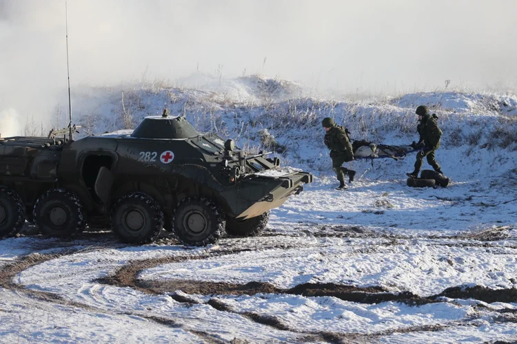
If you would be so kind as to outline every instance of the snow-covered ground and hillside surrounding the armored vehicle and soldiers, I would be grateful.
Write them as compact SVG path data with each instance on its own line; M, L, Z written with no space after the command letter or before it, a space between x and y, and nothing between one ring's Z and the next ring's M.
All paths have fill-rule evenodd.
M127 246L109 232L49 239L28 226L0 241L3 342L517 341L516 96L354 102L303 98L296 84L274 80L223 84L125 92L125 111L136 121L165 100L197 129L256 149L270 148L266 128L285 147L276 152L283 164L316 180L274 209L260 236L203 248L167 233ZM90 91L76 101L83 121L95 118L88 130L127 129L121 93ZM413 154L356 160L356 181L334 190L321 119L336 118L354 138L409 143L420 104L439 105L436 158L451 184L406 186Z

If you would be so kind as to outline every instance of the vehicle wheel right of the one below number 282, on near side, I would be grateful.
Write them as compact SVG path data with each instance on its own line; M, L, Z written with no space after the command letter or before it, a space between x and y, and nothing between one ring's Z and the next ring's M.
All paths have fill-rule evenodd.
M172 216L174 234L185 245L213 244L225 233L223 211L205 197L187 197Z

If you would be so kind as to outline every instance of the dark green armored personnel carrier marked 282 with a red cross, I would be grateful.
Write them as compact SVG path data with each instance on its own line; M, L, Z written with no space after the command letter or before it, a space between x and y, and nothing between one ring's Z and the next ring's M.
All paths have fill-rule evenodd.
M125 242L154 241L162 228L187 245L225 231L250 236L272 208L312 182L268 153L198 133L184 117L150 116L134 131L73 140L0 138L0 237L26 219L41 233L70 236L112 228Z

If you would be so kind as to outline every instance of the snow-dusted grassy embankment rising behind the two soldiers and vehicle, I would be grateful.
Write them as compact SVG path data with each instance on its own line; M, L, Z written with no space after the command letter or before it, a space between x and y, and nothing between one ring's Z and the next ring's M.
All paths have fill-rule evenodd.
M274 151L288 164L332 178L323 145L321 120L332 117L347 127L355 140L409 144L418 140L418 105L438 115L443 129L436 157L453 180L516 175L517 96L444 90L370 98L310 96L296 83L263 76L223 79L196 74L179 86L165 83L83 87L72 94L76 120L83 134L134 129L145 116L186 116L198 131L215 131L233 138L239 147ZM404 178L414 154L406 160L356 160L365 179ZM424 165L424 168L426 165Z

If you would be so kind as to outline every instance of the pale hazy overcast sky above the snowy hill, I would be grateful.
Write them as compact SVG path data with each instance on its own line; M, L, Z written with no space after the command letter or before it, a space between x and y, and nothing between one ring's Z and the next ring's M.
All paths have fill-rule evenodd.
M516 87L516 13L513 0L68 0L70 78L174 81L199 66L336 92ZM65 43L64 0L0 0L0 111L66 97Z

